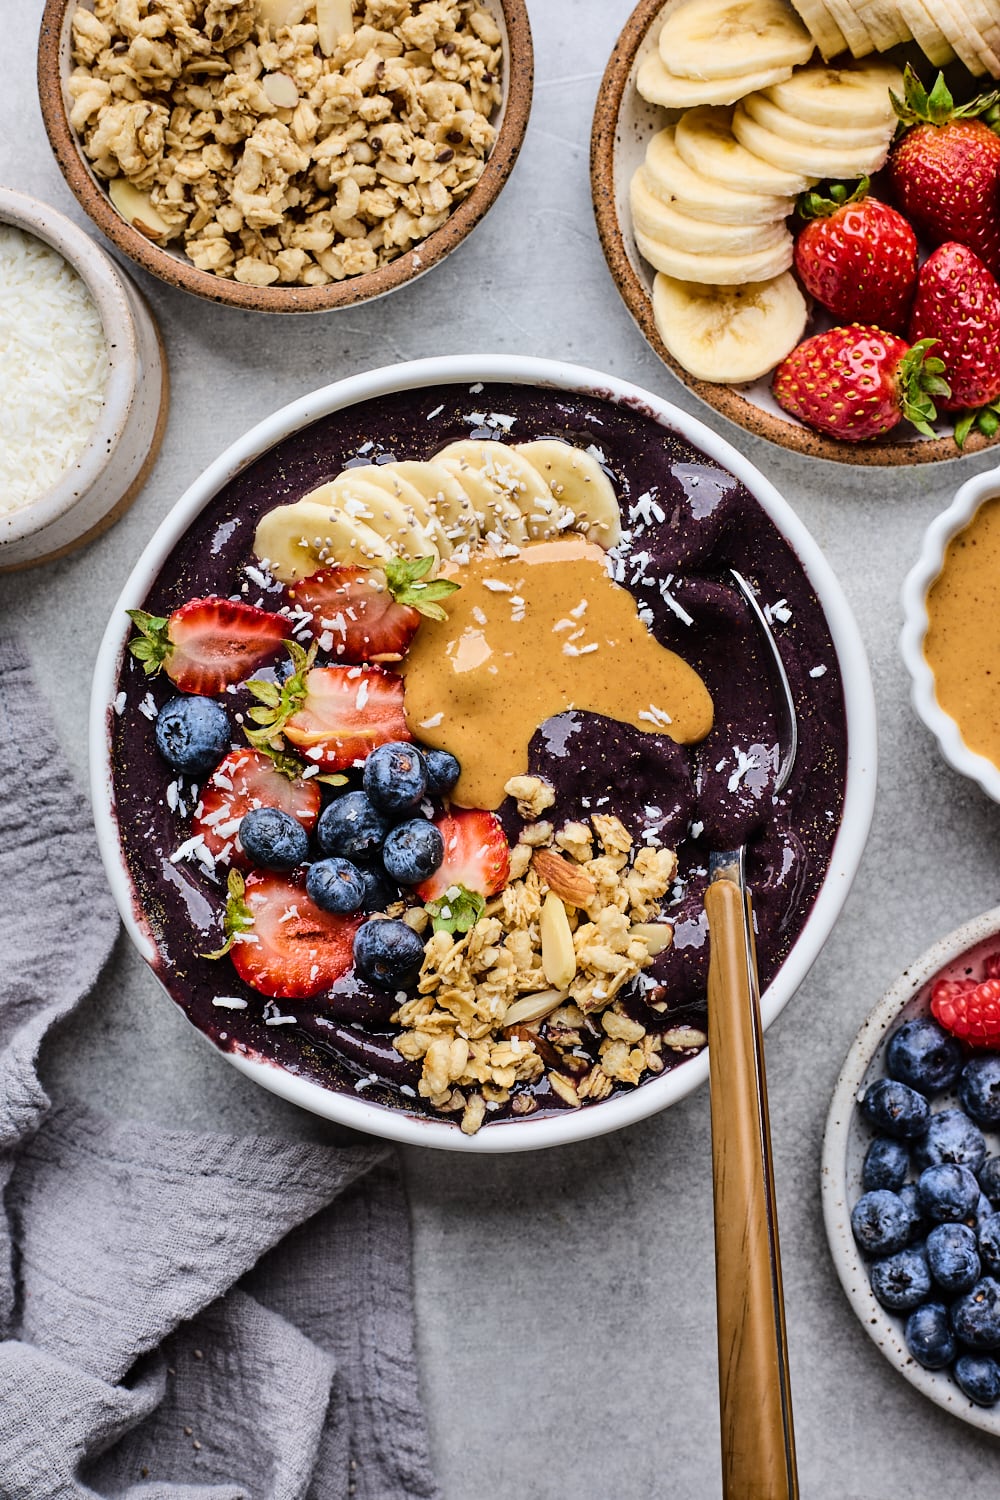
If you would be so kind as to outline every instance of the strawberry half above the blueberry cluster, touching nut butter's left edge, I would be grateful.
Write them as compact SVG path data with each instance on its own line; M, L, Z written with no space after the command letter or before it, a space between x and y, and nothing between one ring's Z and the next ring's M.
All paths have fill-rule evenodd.
M343 771L375 746L409 740L403 680L381 666L318 666L304 698L282 724L285 738L322 771Z

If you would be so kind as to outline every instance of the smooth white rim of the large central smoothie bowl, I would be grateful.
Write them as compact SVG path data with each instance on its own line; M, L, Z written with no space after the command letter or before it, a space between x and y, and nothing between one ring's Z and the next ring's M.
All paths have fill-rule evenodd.
M789 502L778 495L774 484L748 459L696 417L672 406L660 396L616 376L561 360L510 354L463 354L414 360L351 375L300 396L256 423L210 464L168 512L121 590L97 652L93 678L88 730L91 801L97 844L126 932L156 972L156 948L132 888L117 837L114 813L111 724L114 722L112 702L117 678L129 633L124 609L142 603L166 555L193 516L210 504L226 482L291 432L343 406L372 398L415 387L475 384L478 381L588 393L649 412L667 430L690 441L747 484L765 513L775 520L792 544L820 600L844 684L847 722L844 812L823 885L792 952L762 998L762 1017L768 1026L796 992L829 936L847 898L871 825L877 760L876 702L862 638L847 598L819 544ZM208 1046L214 1047L211 1042ZM402 1108L366 1104L361 1098L348 1098L343 1094L324 1089L321 1084L303 1080L262 1059L253 1060L234 1053L223 1053L223 1056L256 1083L262 1083L283 1098L327 1119L409 1144L486 1154L534 1150L618 1130L684 1098L708 1077L708 1050L703 1048L696 1058L658 1078L648 1080L631 1094L613 1095L588 1108L538 1120L525 1118L513 1122L496 1122L477 1136L463 1136L451 1122L408 1114Z

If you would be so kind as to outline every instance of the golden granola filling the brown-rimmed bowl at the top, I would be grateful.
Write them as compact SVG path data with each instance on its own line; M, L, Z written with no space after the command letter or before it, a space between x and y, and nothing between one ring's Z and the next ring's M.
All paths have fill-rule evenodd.
M201 270L250 286L375 270L483 172L501 102L492 15L354 0L354 30L334 36L324 4L351 14L349 0L73 12L70 124L118 210Z

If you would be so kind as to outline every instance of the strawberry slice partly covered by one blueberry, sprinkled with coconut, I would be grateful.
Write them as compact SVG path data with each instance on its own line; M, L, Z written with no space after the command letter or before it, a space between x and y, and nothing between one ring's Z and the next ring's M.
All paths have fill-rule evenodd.
M319 818L319 801L315 780L283 776L262 750L231 750L201 790L192 834L201 834L213 860L246 867L237 828L252 807L280 807L310 834Z

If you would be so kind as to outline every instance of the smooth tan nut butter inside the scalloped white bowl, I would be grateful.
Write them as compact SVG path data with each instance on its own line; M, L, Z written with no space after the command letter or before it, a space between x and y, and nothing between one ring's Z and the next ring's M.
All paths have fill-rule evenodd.
M927 614L937 700L969 748L1000 765L1000 496L948 543Z

